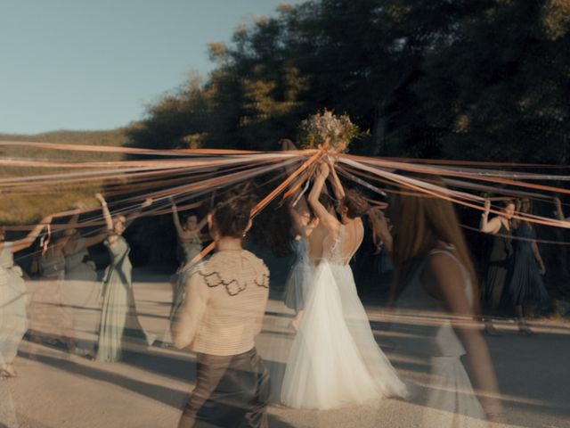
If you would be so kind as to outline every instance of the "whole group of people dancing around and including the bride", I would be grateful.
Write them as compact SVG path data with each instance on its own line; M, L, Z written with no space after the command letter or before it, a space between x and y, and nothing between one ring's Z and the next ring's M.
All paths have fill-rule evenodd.
M394 193L386 210L375 208L362 193L342 185L329 156L317 165L312 182L306 198L299 194L288 208L294 225L291 248L295 262L283 300L295 312L289 325L294 339L285 370L276 377L270 376L255 345L269 297L269 269L243 246L252 226L250 212L255 197L236 188L224 194L224 200L213 205L200 221L194 215L181 221L171 200L176 235L183 249L180 269L172 281L172 337L176 348L190 348L197 355L196 387L183 409L179 427L267 426L271 391L278 391L273 400L293 408L329 409L395 398L442 412L427 412L422 426L485 426L487 420L503 420L493 364L481 329L473 322L479 313L476 269L452 203ZM32 342L39 342L47 331L61 338L69 351L77 348L73 315L61 301L56 305L53 301L61 300L65 280L96 281L94 263L87 252L96 243L107 247L110 266L102 281L94 359L118 361L128 350L154 342L155 336L144 331L137 317L130 249L123 237L126 227L152 200L142 202L126 216L111 215L102 194L97 193L96 198L105 223L100 233L82 237L72 226L78 218L74 214L68 227L43 243L38 269L49 285L40 294L52 303L50 308L41 306L45 300L40 294L27 304L26 285L13 253L34 243L52 216L19 241L4 241L1 231L3 376L16 375L13 360L28 328ZM522 305L548 296L541 277L544 265L533 242L531 224L511 221L516 210L530 213L529 202L521 201L519 207L508 202L501 215L491 219L489 210L487 202L481 230L493 234L494 242L485 279L485 302L491 310L496 309L507 290L521 331L531 333ZM424 361L429 367L427 384L399 378L380 349L359 299L349 262L364 237L364 216L374 226L395 268L395 317L408 319L391 327L395 352ZM202 250L200 230L206 225L216 251L196 263ZM514 249L511 234L525 238L517 241ZM511 257L514 263L509 261ZM419 312L436 313L439 321L426 324L408 317ZM493 332L491 318L485 319L488 331ZM464 356L468 370L461 360ZM458 417L464 420L458 422Z

